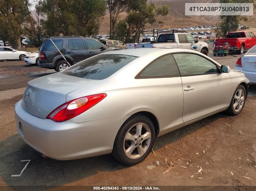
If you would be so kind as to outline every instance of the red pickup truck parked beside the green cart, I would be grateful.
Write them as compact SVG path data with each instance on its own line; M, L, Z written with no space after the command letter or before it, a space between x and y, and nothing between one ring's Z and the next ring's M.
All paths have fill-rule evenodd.
M243 54L245 50L250 49L256 44L255 34L251 31L229 32L226 38L216 39L218 43L229 43L230 50ZM219 44L215 43L215 46Z

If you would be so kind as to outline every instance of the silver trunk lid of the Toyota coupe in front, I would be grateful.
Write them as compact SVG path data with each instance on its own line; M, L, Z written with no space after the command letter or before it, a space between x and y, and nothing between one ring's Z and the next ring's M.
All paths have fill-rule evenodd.
M30 114L45 119L58 106L66 102L66 95L91 85L98 80L78 78L60 72L29 81L22 105Z

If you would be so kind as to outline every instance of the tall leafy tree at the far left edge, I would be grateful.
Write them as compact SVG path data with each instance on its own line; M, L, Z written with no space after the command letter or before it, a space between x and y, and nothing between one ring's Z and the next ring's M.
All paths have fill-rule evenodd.
M21 49L22 24L26 21L28 0L0 1L0 38L9 41L15 49Z

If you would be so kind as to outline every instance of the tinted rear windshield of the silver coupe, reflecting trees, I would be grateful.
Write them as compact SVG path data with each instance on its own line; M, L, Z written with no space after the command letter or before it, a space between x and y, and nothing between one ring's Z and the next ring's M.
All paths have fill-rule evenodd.
M120 54L101 54L65 69L62 74L92 80L103 80L136 58L138 57Z

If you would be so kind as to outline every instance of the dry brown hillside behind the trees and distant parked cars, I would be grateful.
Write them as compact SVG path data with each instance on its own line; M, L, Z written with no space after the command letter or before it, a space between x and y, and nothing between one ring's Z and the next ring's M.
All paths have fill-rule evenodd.
M150 2L150 1L149 1ZM151 0L156 7L162 5L168 5L172 9L185 9L185 3L217 3L218 0ZM184 12L185 13L185 12ZM256 14L256 10L254 10ZM125 13L120 14L119 19L124 19L127 16ZM213 25L219 23L221 20L218 16L185 16L180 11L169 11L169 14L161 17L158 17L159 20L163 21L163 24L153 24L146 26L146 29L159 28L179 28L179 27L189 27L189 26L198 26L198 25ZM101 28L100 34L109 33L109 14L100 20ZM241 25L247 25L249 27L256 27L256 16L249 16L248 21L241 21Z

